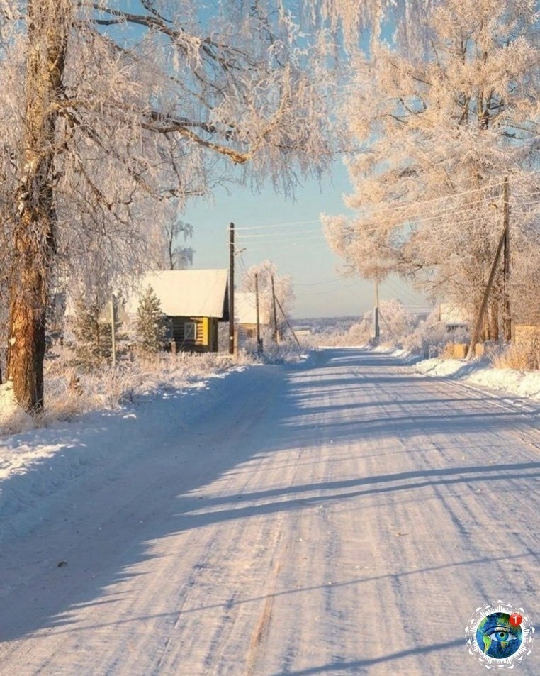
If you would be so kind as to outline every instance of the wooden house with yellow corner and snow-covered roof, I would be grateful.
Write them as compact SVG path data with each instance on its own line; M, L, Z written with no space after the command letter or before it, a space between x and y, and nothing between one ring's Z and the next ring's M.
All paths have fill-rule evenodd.
M147 272L139 293L125 305L135 317L140 293L152 287L169 320L171 343L176 350L218 351L218 322L229 319L227 270L163 270Z

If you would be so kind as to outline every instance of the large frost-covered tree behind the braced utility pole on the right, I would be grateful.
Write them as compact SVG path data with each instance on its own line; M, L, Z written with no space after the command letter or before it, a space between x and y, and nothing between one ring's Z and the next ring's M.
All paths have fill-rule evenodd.
M503 177L512 195L538 190L539 9L446 0L424 23L427 47L373 45L371 60L356 62L343 111L362 143L346 199L356 215L324 219L349 271L412 275L476 313L502 233ZM515 257L536 243L538 211L517 196L511 204ZM499 277L493 325L501 286Z

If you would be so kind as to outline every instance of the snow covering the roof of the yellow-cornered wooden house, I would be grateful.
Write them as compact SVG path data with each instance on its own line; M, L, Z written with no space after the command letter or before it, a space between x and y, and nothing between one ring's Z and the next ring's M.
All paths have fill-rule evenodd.
M132 294L125 309L128 314L136 314L140 294L150 286L169 317L223 318L227 279L227 270L147 272L140 279L139 292Z

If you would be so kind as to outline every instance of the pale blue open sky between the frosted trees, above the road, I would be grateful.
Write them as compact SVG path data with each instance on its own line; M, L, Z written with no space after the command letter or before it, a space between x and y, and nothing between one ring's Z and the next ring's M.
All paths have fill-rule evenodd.
M182 216L193 226L193 267L228 266L228 224L237 228L236 275L244 266L273 260L281 274L293 277L295 318L356 316L373 306L373 284L340 274L341 261L322 234L321 212L346 211L342 195L351 190L345 167L337 162L331 177L319 184L306 180L296 199L285 199L271 187L259 194L249 189L215 191L215 204L191 201ZM304 222L308 221L308 222ZM283 225L289 224L289 225ZM407 306L427 306L424 298L400 279L381 285L381 298L398 298Z

